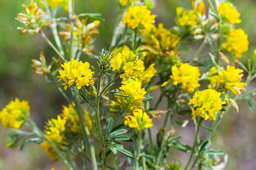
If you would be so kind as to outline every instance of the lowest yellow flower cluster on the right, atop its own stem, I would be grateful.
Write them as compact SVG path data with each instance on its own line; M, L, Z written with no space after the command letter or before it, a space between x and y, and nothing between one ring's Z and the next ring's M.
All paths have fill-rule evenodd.
M222 109L220 96L221 93L213 89L195 92L188 103L188 105L193 105L192 119L195 120L196 116L201 116L205 120L215 120L215 113Z

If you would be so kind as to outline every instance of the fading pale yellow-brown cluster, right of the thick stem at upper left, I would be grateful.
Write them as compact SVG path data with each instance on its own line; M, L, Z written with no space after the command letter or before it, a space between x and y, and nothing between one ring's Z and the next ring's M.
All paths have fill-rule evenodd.
M100 21L95 20L92 23L86 24L88 18L84 18L81 21L79 17L75 17L75 27L73 31L73 41L76 46L80 47L86 54L93 54L95 52L93 46L93 35L99 34ZM60 31L59 34L64 38L64 40L70 40L70 24L66 24L67 31Z

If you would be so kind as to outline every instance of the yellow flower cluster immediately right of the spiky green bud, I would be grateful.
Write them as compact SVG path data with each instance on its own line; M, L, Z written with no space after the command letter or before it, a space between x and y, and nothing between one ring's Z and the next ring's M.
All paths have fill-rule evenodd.
M138 81L141 72L145 67L143 61L138 59L139 56L133 53L133 51L122 51L110 60L113 71L119 72L120 78L125 82L128 78L132 78Z

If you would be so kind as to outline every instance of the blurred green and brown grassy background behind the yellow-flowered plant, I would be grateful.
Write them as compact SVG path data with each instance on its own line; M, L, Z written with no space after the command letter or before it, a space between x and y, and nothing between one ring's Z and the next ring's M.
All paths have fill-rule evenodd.
M108 48L118 14L118 0L76 0L76 14L101 13L105 22L101 22L100 34L96 36L96 54L102 48ZM32 119L43 128L47 119L61 112L61 105L66 104L53 85L44 82L44 77L34 75L30 67L31 59L38 59L43 50L48 61L56 56L54 51L40 37L21 34L16 30L21 26L14 20L18 12L23 12L21 4L29 5L29 0L0 0L0 108L10 100L18 97L29 100ZM249 35L250 50L244 54L242 62L253 59L256 48L256 1L232 0L241 13L241 27ZM164 23L166 28L175 25L176 7L190 8L189 0L157 0L153 14L157 15L156 23ZM47 32L47 31L45 31ZM195 46L197 46L196 44ZM184 54L194 54L194 51ZM189 58L189 56L183 55ZM256 88L253 82L247 90ZM224 149L229 155L227 170L256 169L256 115L250 112L245 102L239 103L240 113L234 109L225 115L218 132L213 136L215 149ZM155 122L160 124L161 122ZM194 135L192 124L179 130L183 141L191 143ZM64 170L60 163L51 163L44 150L35 144L28 144L23 151L5 147L7 130L0 127L0 170ZM184 158L184 157L181 157ZM184 162L182 160L181 162Z

